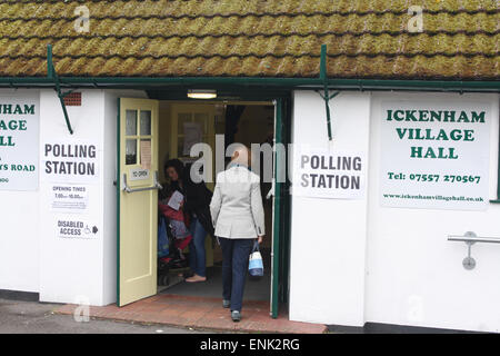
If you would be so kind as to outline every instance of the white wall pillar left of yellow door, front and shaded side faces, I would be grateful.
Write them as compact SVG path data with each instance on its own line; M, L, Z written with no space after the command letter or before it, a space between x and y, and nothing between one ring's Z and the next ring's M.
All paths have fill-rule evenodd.
M51 182L40 179L40 300L108 305L117 298L117 98L144 97L143 92L83 90L82 106L68 107L74 135L66 127L61 105L53 90L40 96L41 150L46 142L80 140L99 147L99 180L89 184L86 218L99 228L96 239L63 239L54 226L60 212L50 209ZM42 152L41 152L42 156ZM42 157L41 157L42 159ZM64 216L64 215L62 215Z

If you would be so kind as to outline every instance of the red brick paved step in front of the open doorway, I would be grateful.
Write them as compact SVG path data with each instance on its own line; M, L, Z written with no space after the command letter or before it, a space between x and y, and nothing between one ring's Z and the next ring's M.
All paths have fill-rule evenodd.
M64 305L56 313L73 315L78 305ZM172 327L184 327L197 330L226 333L287 333L287 334L322 334L327 326L292 322L286 308L278 318L269 315L269 301L247 300L243 303L240 323L233 323L229 309L222 308L221 298L194 297L158 294L136 303L117 307L90 307L89 315L99 319L154 323Z

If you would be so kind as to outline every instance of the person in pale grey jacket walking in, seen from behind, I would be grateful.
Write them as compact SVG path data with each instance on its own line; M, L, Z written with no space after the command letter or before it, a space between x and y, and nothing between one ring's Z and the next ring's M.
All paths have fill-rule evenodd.
M262 243L264 214L260 178L250 169L249 150L234 149L227 170L217 176L210 211L222 249L222 306L240 322L249 255L254 240Z

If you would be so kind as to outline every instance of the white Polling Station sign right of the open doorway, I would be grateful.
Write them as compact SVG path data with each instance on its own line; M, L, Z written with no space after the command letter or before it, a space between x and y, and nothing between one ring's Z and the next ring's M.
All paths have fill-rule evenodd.
M338 199L364 197L364 154L301 148L294 157L293 195Z

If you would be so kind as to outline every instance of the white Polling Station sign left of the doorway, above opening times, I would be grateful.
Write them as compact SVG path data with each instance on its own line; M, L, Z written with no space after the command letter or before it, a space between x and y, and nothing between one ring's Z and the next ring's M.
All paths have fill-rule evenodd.
M99 182L99 149L89 141L52 141L42 145L42 176L47 181Z

